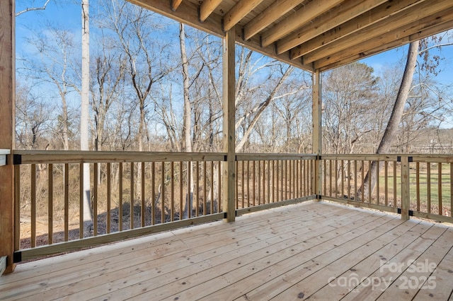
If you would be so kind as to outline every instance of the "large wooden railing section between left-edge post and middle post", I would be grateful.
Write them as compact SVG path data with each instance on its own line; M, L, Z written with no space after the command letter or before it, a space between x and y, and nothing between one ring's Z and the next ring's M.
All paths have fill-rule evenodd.
M16 261L221 220L224 158L14 151ZM84 231L84 163L91 177L90 231Z

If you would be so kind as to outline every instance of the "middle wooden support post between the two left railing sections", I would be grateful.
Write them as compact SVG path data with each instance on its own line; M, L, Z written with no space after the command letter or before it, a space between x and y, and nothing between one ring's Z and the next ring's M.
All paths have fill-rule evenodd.
M222 208L226 212L226 221L232 222L236 216L234 208L235 196L235 178L234 170L235 163L235 142L236 135L234 133L234 88L236 85L235 78L235 55L234 55L234 28L227 31L223 40L223 144L224 152L227 154L226 162L224 162L223 172L223 191L222 191Z

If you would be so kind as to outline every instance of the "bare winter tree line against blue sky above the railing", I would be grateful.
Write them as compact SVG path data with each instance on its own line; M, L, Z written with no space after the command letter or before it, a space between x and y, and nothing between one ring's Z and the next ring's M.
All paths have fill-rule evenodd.
M222 40L126 1L91 5L90 149L221 151ZM23 45L17 148L80 149L80 37L43 22ZM402 69L354 63L323 73L323 153L377 151ZM391 151L415 151L451 111L449 87L420 63ZM310 74L238 46L235 126L238 152L311 153Z

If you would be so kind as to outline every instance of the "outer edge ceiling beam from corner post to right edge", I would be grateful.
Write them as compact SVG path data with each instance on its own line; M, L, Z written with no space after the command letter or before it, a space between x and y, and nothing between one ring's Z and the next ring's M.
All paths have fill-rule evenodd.
M385 52L389 49L406 45L415 40L420 40L425 37L430 37L437 33L442 33L445 30L453 28L453 8L450 8L445 13L442 13L442 18L429 16L422 20L416 20L412 24L405 25L402 28L392 30L385 38L374 37L371 40L355 45L351 49L345 49L331 57L326 57L315 61L316 69L326 71L338 66L349 64L352 61L370 57L380 52ZM371 49L370 49L371 46Z

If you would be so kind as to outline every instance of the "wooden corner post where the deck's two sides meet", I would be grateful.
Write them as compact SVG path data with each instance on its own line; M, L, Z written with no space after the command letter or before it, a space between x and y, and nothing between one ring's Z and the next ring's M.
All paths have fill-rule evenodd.
M317 155L314 167L314 191L312 194L321 196L322 189L322 161L320 156L322 153L322 115L321 115L321 72L316 70L313 73L313 105L312 105L312 119L313 119L313 153Z

